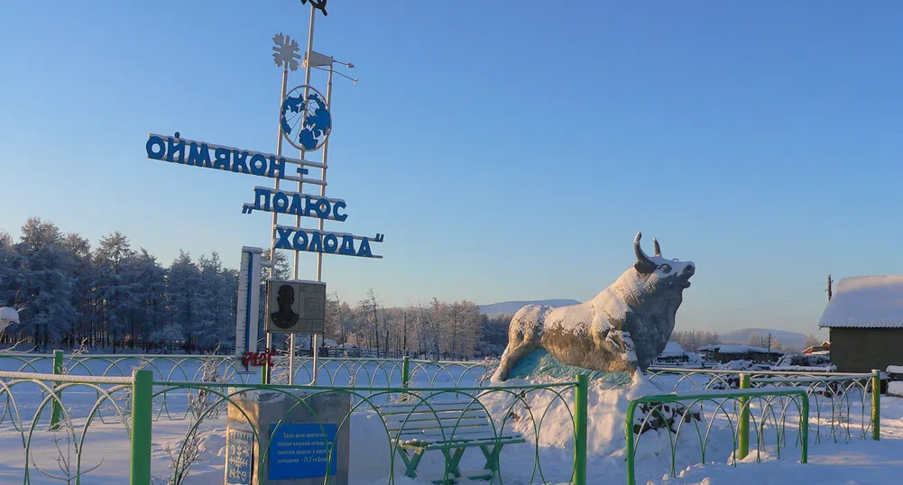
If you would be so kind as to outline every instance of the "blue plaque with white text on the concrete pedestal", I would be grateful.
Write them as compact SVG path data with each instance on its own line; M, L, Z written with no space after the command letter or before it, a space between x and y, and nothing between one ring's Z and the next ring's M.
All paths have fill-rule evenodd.
M330 459L330 475L338 470L335 445L336 424L283 423L278 429L270 424L270 453L267 460L269 480L309 479L326 476Z

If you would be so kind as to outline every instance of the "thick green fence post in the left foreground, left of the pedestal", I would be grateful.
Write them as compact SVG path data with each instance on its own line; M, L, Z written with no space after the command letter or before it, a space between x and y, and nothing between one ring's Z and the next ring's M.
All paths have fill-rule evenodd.
M129 483L150 485L154 372L136 370L132 376L132 471Z

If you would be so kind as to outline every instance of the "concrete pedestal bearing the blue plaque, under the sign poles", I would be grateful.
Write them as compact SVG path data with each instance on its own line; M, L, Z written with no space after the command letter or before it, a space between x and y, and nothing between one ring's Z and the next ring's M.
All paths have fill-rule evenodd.
M348 485L349 394L293 390L285 396L260 390L233 401L226 434L228 485L321 485L327 473L331 484Z

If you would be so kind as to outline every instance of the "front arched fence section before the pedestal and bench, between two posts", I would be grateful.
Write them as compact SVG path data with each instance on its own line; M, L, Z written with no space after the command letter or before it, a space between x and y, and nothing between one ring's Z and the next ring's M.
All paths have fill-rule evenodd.
M486 426L490 430L493 438L481 442L480 448L485 447L483 455L479 451L470 453L470 459L479 460L485 458L487 460L486 467L490 467L491 449L498 447L504 454L504 459L498 460L498 470L491 474L489 483L547 483L561 482L566 480L574 484L586 483L586 442L587 442L587 379L580 377L576 382L545 384L535 386L506 386L506 387L326 387L326 386L284 386L284 385L231 385L223 386L219 384L209 384L201 382L155 382L154 383L154 399L168 393L177 393L182 395L186 392L200 395L206 393L207 401L192 412L192 419L185 434L182 443L193 443L192 437L200 433L203 424L212 416L221 416L223 411L228 408L228 415L235 417L241 415L241 424L245 429L249 429L253 435L253 441L259 443L260 452L254 456L256 469L263 470L264 463L270 458L273 448L273 439L280 429L280 426L288 423L291 418L290 414L296 410L304 410L308 415L313 415L313 422L320 424L323 428L323 443L330 443L330 436L327 435L326 425L337 424L336 429L331 432L332 435L342 433L342 430L349 427L352 422L355 425L369 423L367 428L367 447L380 448L385 452L384 462L388 463L386 483L396 483L396 475L400 475L402 471L411 471L408 462L412 457L407 455L405 448L410 447L410 438L402 434L400 430L394 429L390 423L389 415L386 409L389 406L398 404L407 404L413 406L411 411L405 411L401 416L401 420L405 423L422 422L422 415L414 415L416 408L420 408L421 413L427 415L435 415L439 420L440 416L447 416L451 411L447 407L451 403L458 403L455 409L462 413L467 411L479 411L481 414L489 416L489 424ZM247 407L247 396L255 396L256 393L267 393L278 396L279 402L287 403L284 406L286 410L282 415L278 424L274 429L265 430L258 429L254 424L253 413L244 410ZM316 416L315 406L312 404L318 397L326 395L348 396L350 402L350 410L347 415L342 415L336 423L335 416L331 418ZM268 397L267 402L274 401L275 397ZM568 476L554 476L554 469L548 463L544 467L545 446L543 445L549 432L544 434L543 426L547 423L552 410L561 412L564 409L570 418L571 426L571 443L573 443L573 468ZM395 413L396 424L398 421L397 411ZM215 419L215 417L214 417ZM372 420L377 420L376 422ZM463 443L468 440L476 439L468 435L467 438L459 439L458 436L464 426L473 426L475 418L467 415L465 417L452 420L452 424L442 425L439 430L443 440L442 443L449 443L446 446L449 450L457 450L444 455L444 465L439 467L439 476L435 477L439 482L451 483L454 480L457 463L461 461L462 454L464 458L468 455L464 452L470 446ZM466 422L466 423L465 423ZM377 423L374 427L374 423ZM556 428L560 431L560 428ZM468 430L465 431L469 431ZM435 433L435 432L434 432ZM523 435L526 443L510 444L504 450L499 446L504 444L507 438L512 434ZM555 436L561 439L561 436ZM433 436L433 439L436 439ZM332 440L330 445L324 452L327 456L332 457L338 452L336 446L337 440ZM430 446L442 446L440 443L433 442ZM359 445L359 443L358 443ZM431 448L433 449L433 448ZM526 452L529 450L529 452ZM437 453L437 456L442 454ZM559 458L558 454L554 455L555 459ZM419 457L417 458L419 461ZM176 464L176 473L178 469L191 467L191 449L190 445L182 445L173 462ZM449 466L452 462L452 466ZM481 465L482 463L477 463ZM408 465L405 469L405 465ZM414 465L415 467L415 465ZM418 473L420 471L417 471ZM436 472L433 470L433 472ZM553 473L550 475L550 473ZM328 483L329 477L324 483Z

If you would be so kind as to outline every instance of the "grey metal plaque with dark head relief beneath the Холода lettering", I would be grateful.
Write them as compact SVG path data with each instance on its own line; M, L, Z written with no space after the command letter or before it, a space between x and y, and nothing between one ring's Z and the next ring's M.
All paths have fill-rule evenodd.
M266 331L317 333L326 327L326 284L315 281L267 281Z

